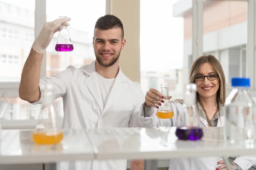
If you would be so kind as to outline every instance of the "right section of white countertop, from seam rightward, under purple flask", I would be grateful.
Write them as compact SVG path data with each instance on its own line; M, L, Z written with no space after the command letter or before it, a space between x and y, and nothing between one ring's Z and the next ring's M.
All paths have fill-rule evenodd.
M167 130L170 130L168 135ZM204 128L204 137L200 141L177 140L175 130L176 127L94 129L88 134L90 139L96 139L95 134L99 134L98 136L103 139L100 145L92 142L93 148L96 148L96 159L170 159L256 153L256 146L253 144L225 144L222 127Z

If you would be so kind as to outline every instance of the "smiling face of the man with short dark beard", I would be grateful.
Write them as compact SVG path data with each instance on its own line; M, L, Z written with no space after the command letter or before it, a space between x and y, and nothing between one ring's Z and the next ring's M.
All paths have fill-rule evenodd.
M125 47L126 40L122 40L122 29L113 28L101 30L95 28L93 48L100 65L110 67L119 59L121 50Z

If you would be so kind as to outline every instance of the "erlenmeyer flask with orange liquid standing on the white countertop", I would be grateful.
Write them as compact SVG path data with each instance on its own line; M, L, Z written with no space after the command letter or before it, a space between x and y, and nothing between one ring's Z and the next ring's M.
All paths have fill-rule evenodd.
M38 116L38 125L32 134L36 144L59 144L63 139L61 119L53 106L54 95L52 85L41 87L42 106Z

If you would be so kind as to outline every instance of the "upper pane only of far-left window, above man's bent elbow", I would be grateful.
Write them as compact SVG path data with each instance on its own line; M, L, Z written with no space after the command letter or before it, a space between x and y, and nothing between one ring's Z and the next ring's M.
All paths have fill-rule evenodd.
M34 12L35 0L0 0L0 82L20 81L34 41Z

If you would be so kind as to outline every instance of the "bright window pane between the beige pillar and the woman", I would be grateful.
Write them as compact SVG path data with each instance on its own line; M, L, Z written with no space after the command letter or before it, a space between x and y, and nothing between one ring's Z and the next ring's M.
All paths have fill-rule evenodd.
M160 91L160 84L168 83L169 95L182 97L183 58L192 53L183 48L192 45L192 19L172 17L177 12L172 11L175 2L140 0L140 81L144 94L150 88ZM188 70L187 58L184 62Z

